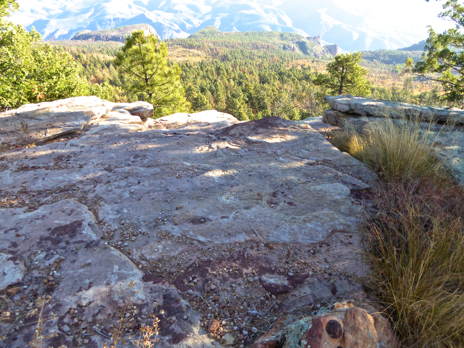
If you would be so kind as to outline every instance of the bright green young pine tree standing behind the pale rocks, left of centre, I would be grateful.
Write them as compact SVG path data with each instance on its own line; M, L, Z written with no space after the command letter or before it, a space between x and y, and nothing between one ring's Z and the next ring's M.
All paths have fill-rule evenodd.
M129 97L152 103L156 117L188 110L181 70L177 64L168 64L166 45L153 34L132 32L114 64Z

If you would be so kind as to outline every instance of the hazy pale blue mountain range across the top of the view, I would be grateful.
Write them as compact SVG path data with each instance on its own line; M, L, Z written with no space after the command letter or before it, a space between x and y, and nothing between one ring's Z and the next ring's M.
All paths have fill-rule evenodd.
M18 0L13 21L44 39L69 39L83 30L151 25L161 38L185 38L207 26L222 32L285 31L322 36L343 50L397 49L423 35L378 23L340 0ZM342 5L341 5L342 4Z

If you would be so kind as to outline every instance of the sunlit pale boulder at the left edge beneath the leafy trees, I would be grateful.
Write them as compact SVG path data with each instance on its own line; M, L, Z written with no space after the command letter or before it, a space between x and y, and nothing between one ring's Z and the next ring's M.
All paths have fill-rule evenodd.
M23 105L0 113L0 152L38 145L92 128L105 132L138 132L154 126L153 105L145 101L112 103L96 96L80 96Z

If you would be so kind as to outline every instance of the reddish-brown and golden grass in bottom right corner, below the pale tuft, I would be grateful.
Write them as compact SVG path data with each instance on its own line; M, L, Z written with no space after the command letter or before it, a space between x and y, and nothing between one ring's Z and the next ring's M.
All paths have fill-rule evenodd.
M364 226L376 277L405 347L464 347L464 190L433 177L385 180Z

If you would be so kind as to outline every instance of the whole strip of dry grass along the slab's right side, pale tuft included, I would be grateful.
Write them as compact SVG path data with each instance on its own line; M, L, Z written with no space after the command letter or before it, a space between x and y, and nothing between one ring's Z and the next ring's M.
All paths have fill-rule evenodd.
M404 347L464 347L464 189L426 133L418 122L387 119L345 135L347 149L381 177L379 211L363 226L374 274L365 285Z

